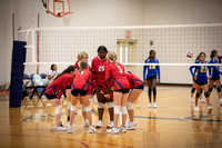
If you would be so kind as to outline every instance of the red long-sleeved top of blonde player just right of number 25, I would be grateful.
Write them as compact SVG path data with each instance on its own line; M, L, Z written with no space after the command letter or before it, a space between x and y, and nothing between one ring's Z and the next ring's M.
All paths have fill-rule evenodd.
M105 80L102 87L102 91L104 92L105 86L110 86L112 80L114 81L114 90L119 89L130 89L130 83L124 75L124 67L117 62L118 67L121 69L122 73L120 73L119 69L114 66L113 62L108 63L105 66Z

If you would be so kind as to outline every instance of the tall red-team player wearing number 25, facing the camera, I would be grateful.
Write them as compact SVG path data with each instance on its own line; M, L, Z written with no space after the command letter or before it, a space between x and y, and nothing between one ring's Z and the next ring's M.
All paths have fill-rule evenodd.
M97 93L97 99L98 99L98 115L99 115L99 121L95 125L95 128L101 128L102 127L102 117L104 112L104 103L107 102L108 108L109 108L109 114L110 114L110 124L107 126L108 128L112 128L114 126L113 122L113 98L104 98L104 95L101 93L102 86L104 83L104 67L109 63L107 60L107 53L108 50L104 46L100 46L98 48L98 57L95 57L92 60L91 65L91 71L92 71L92 82L93 87ZM105 89L105 93L113 93L111 88L108 87Z

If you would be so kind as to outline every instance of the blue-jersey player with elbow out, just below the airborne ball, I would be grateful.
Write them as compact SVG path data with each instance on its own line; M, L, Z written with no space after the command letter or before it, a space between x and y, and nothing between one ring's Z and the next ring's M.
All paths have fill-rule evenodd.
M200 62L196 63L209 63L208 61L205 61L205 53L201 52L199 55L199 59ZM193 72L193 67L194 67L194 72ZM208 75L206 71L209 69L209 78L211 78L211 67L209 66L191 66L190 67L190 71L191 75L193 76L194 80L195 80L195 89L196 89L196 95L195 95L195 107L194 107L194 111L200 111L199 107L198 107L198 100L200 97L200 92L201 92L201 86L203 86L203 90L204 90L204 96L206 99L206 106L208 106L208 112L211 114L211 111L213 110L210 103L210 93L209 93L209 86L208 86Z

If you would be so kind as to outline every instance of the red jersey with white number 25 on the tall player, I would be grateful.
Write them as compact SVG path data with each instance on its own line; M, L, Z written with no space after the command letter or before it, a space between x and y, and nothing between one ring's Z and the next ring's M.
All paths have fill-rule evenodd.
M92 60L91 65L91 71L92 71L92 83L94 89L98 88L98 86L103 86L104 83L104 67L109 63L109 61L105 59L101 60L99 57L95 57Z

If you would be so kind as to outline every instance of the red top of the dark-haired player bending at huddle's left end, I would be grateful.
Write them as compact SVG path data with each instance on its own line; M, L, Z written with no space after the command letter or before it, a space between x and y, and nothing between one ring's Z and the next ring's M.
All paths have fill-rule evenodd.
M71 80L72 78L70 77L70 73L60 76L46 88L46 93L56 95L60 91L58 95L58 99L60 99L62 93L65 91L67 86L71 85Z

